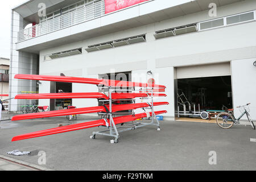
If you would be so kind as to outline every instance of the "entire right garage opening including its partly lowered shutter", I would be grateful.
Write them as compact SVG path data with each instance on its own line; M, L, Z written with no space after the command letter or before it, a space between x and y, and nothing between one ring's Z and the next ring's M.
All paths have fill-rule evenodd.
M233 107L230 63L177 68L176 89L176 117L216 117L223 106ZM202 117L203 111L207 117Z

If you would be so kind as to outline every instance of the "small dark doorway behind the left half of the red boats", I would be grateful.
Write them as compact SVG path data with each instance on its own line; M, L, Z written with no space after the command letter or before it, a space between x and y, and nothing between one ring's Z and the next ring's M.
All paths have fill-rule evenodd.
M56 92L55 93L72 93L72 83L65 83L65 82L56 82ZM68 106L72 105L72 99L56 99L55 100L55 107L56 110L64 109Z

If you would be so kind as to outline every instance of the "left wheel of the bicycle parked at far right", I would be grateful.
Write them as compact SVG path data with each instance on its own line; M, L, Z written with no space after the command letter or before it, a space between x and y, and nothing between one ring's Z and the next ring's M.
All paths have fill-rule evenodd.
M234 117L229 113L220 113L217 115L216 122L222 129L229 129L234 125Z

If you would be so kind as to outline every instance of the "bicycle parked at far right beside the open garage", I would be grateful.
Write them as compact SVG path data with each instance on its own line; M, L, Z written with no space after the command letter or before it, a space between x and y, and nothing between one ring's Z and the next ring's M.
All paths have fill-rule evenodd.
M243 117L243 115L246 114L246 116L248 118L248 121L251 124L251 127L253 127L253 129L255 130L253 119L251 119L250 114L249 114L249 112L250 112L249 105L250 105L250 103L237 107L237 108L240 109L240 111L242 113L240 115L240 117L238 117L238 118L236 118L234 116L233 109L226 108L227 111L222 112L222 113L217 115L217 118L216 118L217 125L220 126L222 129L229 129L230 127L232 127L234 125L234 123L239 124L240 119Z

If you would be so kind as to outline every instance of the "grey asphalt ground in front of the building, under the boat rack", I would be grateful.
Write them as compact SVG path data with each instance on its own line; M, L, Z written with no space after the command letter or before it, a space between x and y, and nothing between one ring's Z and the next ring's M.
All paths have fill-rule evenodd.
M77 122L95 119L79 116ZM2 121L0 155L53 170L256 169L256 131L249 123L225 130L216 123L160 121L160 131L155 126L126 131L119 134L115 144L101 135L90 139L93 131L102 130L98 127L11 142L16 135L51 129L60 123L70 122L65 117ZM13 150L31 154L7 155Z

